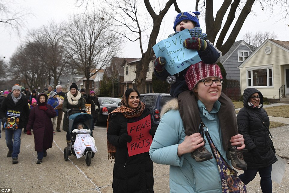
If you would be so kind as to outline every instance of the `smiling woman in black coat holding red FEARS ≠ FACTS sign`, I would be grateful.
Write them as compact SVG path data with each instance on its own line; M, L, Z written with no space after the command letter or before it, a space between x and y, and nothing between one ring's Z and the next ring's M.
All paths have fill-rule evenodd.
M149 120L146 120L148 116ZM111 162L115 161L114 193L154 192L153 162L148 151L140 153L139 150L151 145L156 130L150 110L140 101L138 91L127 89L121 106L112 111L107 120L108 155ZM139 136L132 137L129 135L132 132L138 132ZM151 139L143 137L148 133L152 135ZM129 151L138 154L129 156Z

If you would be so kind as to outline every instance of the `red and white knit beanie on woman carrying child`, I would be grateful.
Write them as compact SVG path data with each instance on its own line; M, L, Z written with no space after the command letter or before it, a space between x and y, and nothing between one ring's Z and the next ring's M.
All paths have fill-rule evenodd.
M200 61L190 66L185 80L189 90L192 91L200 80L209 77L223 79L220 67L217 64L205 64L203 61Z

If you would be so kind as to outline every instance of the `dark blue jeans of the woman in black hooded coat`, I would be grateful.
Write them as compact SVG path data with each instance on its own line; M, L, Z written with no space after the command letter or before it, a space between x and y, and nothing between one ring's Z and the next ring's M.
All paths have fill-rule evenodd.
M255 178L258 171L261 177L260 186L261 186L262 192L272 193L272 180L271 180L272 165L268 167L259 168L259 169L247 169L244 171L243 174L239 175L239 178L246 185Z

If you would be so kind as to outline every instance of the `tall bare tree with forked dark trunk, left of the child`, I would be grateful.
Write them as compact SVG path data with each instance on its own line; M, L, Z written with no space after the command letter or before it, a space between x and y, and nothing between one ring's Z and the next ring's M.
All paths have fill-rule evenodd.
M138 0L119 0L113 3L107 1L107 3L111 7L109 16L117 22L117 32L123 40L139 42L142 57L136 65L135 86L140 93L145 93L148 66L154 56L152 47L156 44L163 17L173 4L177 12L181 11L175 0L169 0L159 14L156 14L149 0L144 0L145 8L151 16L149 18L146 14L138 12L138 5L140 4ZM126 29L121 30L120 26L125 26ZM147 35L149 30L151 33Z

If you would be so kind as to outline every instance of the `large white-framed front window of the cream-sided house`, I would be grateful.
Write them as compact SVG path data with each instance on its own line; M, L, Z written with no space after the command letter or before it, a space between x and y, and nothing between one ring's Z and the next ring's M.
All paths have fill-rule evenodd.
M248 70L248 86L273 86L272 67Z

